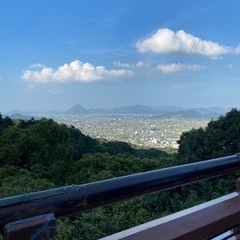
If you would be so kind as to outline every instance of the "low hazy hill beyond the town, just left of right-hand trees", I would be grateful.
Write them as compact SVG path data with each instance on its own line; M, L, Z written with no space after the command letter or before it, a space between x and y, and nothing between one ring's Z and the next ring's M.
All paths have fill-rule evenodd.
M211 119L211 118L217 118L221 114L219 113L200 113L194 110L185 110L185 111L176 111L176 112L170 112L161 115L161 117L166 117L166 118L206 118L206 119Z

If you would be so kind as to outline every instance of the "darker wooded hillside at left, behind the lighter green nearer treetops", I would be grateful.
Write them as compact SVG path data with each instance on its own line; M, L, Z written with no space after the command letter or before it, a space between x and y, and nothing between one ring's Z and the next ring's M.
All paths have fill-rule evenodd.
M35 170L57 163L77 162L86 154L124 154L140 159L159 159L168 154L157 149L136 149L125 142L98 141L74 126L52 119L12 120L0 116L0 163Z

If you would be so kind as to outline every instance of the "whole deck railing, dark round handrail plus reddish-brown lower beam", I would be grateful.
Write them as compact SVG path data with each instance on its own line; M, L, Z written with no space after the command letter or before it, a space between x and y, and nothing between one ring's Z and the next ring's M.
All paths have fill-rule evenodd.
M56 232L55 218L237 170L240 170L239 154L4 198L0 200L0 230L4 240L50 239ZM240 195L237 192L103 239L200 240L216 236L238 239ZM225 232L226 236L221 235Z

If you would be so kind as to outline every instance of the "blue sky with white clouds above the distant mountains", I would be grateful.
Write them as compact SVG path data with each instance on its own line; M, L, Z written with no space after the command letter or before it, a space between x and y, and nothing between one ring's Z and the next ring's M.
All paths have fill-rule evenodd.
M0 112L240 107L239 0L0 0Z

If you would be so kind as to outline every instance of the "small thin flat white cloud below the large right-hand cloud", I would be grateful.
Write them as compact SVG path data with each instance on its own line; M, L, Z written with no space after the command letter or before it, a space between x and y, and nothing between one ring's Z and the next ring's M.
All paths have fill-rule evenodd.
M156 70L164 74L183 72L183 71L200 71L206 67L198 64L183 64L183 63L171 63L171 64L159 64Z

